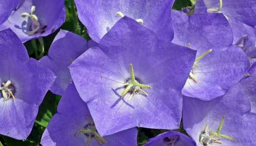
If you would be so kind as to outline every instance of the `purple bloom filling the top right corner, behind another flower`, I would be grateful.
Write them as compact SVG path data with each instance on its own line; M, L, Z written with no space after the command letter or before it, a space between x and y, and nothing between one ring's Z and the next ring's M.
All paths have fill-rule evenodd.
M254 26L256 2L254 0L199 0L196 13L222 13L233 31L233 44L241 47L248 57L256 58Z

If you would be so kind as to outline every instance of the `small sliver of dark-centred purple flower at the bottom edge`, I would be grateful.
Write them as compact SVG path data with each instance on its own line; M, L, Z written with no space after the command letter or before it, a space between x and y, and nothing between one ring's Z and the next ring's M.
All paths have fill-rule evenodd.
M144 146L196 146L196 143L193 139L187 137L186 135L169 131L157 135L154 138L151 138Z

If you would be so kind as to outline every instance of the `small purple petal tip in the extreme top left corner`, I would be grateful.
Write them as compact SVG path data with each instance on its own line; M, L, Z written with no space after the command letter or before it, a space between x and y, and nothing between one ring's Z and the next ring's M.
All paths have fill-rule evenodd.
M18 3L19 0L4 0L0 2L0 25L8 19Z

